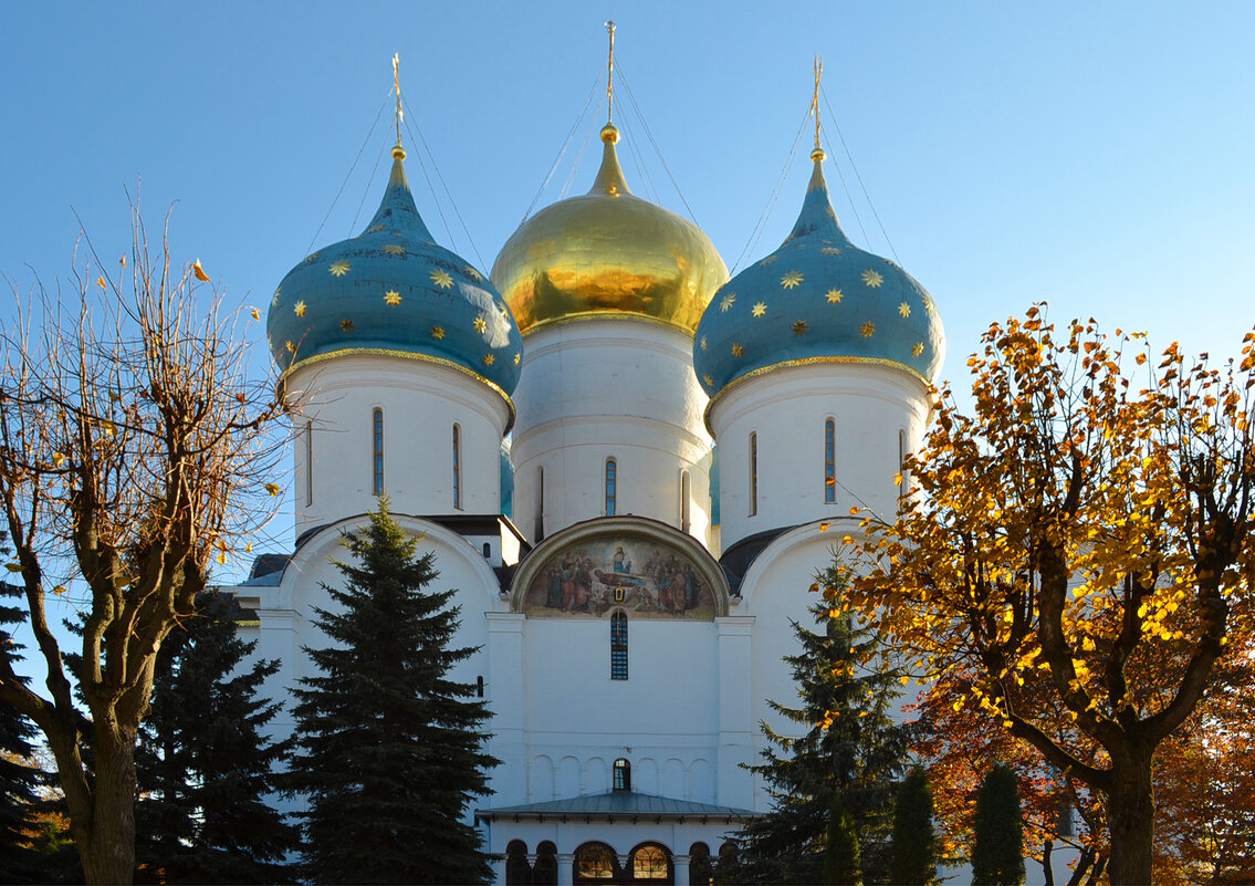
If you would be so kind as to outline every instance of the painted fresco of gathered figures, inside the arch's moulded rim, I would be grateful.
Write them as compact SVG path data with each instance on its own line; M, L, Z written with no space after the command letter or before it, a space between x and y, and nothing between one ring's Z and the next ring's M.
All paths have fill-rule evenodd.
M523 609L536 616L599 617L620 606L644 617L710 619L714 596L686 557L626 538L585 541L556 553L532 579Z

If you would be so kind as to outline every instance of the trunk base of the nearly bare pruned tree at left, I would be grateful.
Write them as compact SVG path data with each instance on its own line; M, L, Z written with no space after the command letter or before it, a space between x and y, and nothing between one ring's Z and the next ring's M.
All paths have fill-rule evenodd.
M136 745L125 738L112 744L97 752L90 836L78 847L88 883L136 877Z

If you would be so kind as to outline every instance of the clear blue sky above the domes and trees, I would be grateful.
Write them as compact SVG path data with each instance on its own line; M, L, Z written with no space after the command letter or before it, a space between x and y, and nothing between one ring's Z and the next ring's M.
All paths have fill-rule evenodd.
M619 72L729 266L789 157L818 53L835 114L825 108L830 157L856 197L830 167L837 213L855 242L892 257L840 127L899 261L941 311L946 378L961 380L990 320L1043 299L1057 320L1093 315L1156 343L1237 353L1255 320L1255 4L768 8L3 4L0 271L19 290L33 280L28 265L45 281L65 275L70 207L103 256L120 255L123 187L142 177L149 223L178 201L176 255L198 256L231 299L265 309L311 241L359 232L378 202L389 110L320 232L392 87L393 53L409 122L471 237L439 189L446 233L415 163L425 152L410 144L419 208L439 240L487 270L600 83L537 208L558 198L590 136L571 192L591 182L612 18ZM685 213L622 87L619 97L616 119L654 198ZM807 138L750 259L792 225ZM630 148L621 156L630 184L650 196ZM264 331L252 330L264 366Z

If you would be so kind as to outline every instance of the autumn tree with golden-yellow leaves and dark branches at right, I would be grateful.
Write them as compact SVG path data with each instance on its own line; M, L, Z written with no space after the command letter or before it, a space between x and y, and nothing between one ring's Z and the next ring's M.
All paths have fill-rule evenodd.
M1098 792L1116 886L1152 881L1156 749L1252 629L1251 388L1042 306L969 360L974 414L939 394L915 494L867 517L851 604L954 702ZM1067 728L1060 728L1067 724ZM1097 747L1097 753L1093 748Z

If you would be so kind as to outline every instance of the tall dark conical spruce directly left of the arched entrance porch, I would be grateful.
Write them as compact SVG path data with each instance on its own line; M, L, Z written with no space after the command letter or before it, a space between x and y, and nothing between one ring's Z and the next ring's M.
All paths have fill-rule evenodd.
M467 804L489 792L497 761L482 749L489 713L449 670L454 591L428 592L434 555L388 515L345 533L344 590L318 609L331 641L305 648L318 674L295 689L305 876L319 883L473 883L492 871Z

